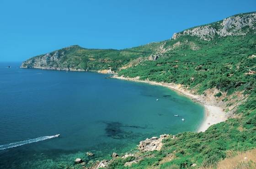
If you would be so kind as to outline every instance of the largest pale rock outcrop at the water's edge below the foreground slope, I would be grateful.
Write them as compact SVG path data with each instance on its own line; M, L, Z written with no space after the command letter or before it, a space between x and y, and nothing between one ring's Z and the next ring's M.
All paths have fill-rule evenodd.
M152 138L147 138L144 141L139 142L139 150L140 151L154 151L157 150L159 151L162 148L162 140L170 135L164 134L160 135L160 138L158 137L152 137Z

